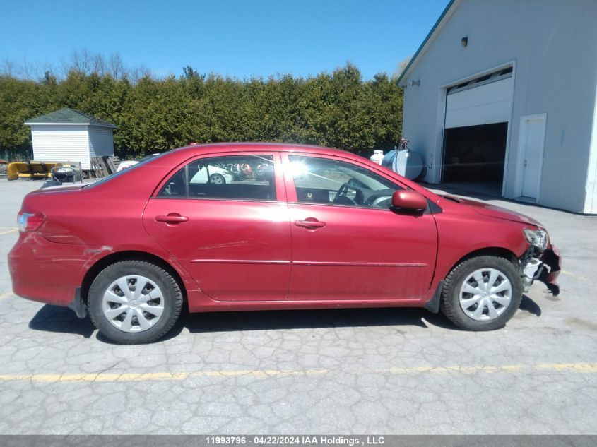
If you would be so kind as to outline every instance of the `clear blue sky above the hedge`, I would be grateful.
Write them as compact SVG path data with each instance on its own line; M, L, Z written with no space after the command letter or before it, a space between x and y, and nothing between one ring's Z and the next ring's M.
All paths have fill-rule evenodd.
M332 71L365 78L412 56L448 0L0 0L0 63L53 66L73 50L119 53L158 76Z

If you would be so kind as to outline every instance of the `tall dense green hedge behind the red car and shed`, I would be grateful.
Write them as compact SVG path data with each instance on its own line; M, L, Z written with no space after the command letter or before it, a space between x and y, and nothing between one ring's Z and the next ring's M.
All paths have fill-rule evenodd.
M116 124L114 149L138 157L194 141L278 141L368 153L398 144L402 88L384 74L362 81L347 64L310 78L239 80L200 75L126 78L70 71L64 80L0 77L0 153L30 150L23 121L72 107Z

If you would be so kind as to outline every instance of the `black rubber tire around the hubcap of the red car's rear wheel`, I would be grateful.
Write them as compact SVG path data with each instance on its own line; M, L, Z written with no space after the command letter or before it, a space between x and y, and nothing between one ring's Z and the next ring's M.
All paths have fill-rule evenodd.
M158 321L146 330L136 333L124 332L105 317L102 297L108 287L126 275L141 275L160 287L163 311ZM146 261L119 261L106 267L93 280L88 294L88 311L91 321L110 340L123 345L150 343L163 337L175 325L182 309L182 292L177 281L166 270Z

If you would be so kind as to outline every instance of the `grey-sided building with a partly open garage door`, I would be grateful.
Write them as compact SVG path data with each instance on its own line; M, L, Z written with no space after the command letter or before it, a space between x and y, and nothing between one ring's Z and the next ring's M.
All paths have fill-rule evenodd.
M452 0L398 79L430 183L597 213L597 1Z

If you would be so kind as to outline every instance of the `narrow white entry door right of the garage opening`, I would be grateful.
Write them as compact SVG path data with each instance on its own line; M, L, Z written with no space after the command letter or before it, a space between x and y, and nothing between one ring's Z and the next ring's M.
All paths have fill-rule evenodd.
M545 114L522 117L519 154L521 160L521 196L538 199L545 145Z

